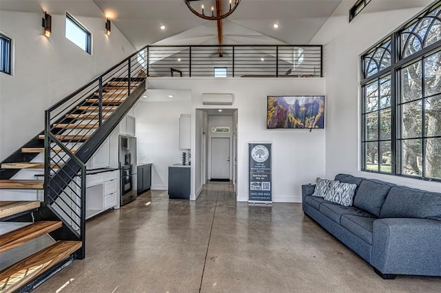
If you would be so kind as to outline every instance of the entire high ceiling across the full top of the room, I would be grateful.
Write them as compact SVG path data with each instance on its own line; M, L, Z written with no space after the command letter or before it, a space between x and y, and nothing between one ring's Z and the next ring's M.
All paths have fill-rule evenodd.
M223 20L223 43L309 44L342 1L350 4L356 2L242 0L236 11ZM376 0L371 1L363 13L377 8L392 10L422 7L428 1ZM0 0L0 10L35 13L48 10L51 14L64 14L66 9L79 17L108 15L112 19L112 25L136 49L151 44L214 45L218 42L216 21L196 17L183 0ZM274 23L278 23L280 28L274 29ZM161 25L165 25L165 30L160 29Z

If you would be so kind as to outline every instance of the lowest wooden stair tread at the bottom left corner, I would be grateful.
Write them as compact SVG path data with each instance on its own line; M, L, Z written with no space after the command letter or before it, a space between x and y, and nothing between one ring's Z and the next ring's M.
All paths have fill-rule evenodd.
M59 241L14 263L0 272L1 292L14 292L80 248L81 241Z

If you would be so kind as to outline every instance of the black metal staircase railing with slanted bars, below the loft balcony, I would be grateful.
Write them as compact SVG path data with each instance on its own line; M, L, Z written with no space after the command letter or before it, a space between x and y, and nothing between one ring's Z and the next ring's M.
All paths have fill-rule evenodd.
M135 52L45 111L45 204L83 244L85 162L145 91L144 52Z

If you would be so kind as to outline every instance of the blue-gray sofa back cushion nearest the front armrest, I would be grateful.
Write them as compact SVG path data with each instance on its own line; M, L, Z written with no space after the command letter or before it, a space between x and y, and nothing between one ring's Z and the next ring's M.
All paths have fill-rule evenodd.
M441 221L441 193L405 186L392 187L380 213L381 218L421 218Z

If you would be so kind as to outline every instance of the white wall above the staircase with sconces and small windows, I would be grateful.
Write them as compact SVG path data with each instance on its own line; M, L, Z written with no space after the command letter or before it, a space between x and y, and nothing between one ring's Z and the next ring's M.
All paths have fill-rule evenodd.
M63 5L75 16L75 3ZM15 56L14 75L0 74L0 160L44 129L45 109L135 51L115 25L105 34L104 13L92 7L103 17L76 17L92 32L92 55L65 39L65 14L52 14L47 38L43 13L0 11L0 31L13 39Z

